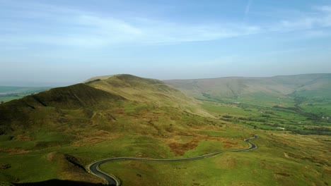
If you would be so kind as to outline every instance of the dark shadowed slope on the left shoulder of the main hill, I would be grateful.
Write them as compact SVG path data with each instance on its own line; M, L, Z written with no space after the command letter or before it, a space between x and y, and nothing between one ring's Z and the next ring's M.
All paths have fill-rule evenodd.
M88 85L59 87L0 105L0 134L44 126L50 128L70 121L70 111L98 109L124 101L123 97Z

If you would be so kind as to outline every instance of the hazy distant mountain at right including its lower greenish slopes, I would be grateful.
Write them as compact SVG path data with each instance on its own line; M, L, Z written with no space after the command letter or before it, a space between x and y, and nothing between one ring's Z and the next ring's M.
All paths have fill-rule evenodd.
M197 80L166 80L168 85L202 101L255 106L300 107L330 115L331 74L275 77L221 77ZM321 103L310 108L312 104ZM323 104L322 104L323 103ZM316 108L323 108L316 109ZM322 113L321 113L322 112Z

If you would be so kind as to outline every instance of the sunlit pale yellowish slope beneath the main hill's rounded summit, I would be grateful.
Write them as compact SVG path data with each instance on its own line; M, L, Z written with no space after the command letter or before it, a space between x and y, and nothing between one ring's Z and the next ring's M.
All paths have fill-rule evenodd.
M147 79L134 75L112 75L103 80L88 82L88 85L112 94L118 94L130 101L154 106L171 106L202 116L209 113L199 108L199 101L187 97L178 89L166 85L161 80Z

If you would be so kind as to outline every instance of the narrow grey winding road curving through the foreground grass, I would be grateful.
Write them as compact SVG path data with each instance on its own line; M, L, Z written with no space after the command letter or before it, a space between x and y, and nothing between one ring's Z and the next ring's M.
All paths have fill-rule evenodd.
M251 151L253 149L257 149L256 144L250 142L250 140L257 138L256 135L252 138L245 139L245 142L248 142L250 144L250 147L247 149L238 149L238 150L231 150L231 151ZM91 163L88 166L88 171L92 173L93 175L97 175L100 178L103 178L108 182L108 185L110 186L120 186L121 182L119 179L117 179L114 175L108 175L106 173L103 173L103 171L100 170L99 166L102 163L106 163L108 161L192 161L192 160L197 160L197 159L206 159L211 156L215 156L217 154L221 154L224 151L216 151L211 154L205 154L202 156L196 156L192 158L185 158L185 159L139 159L139 158L130 158L130 157L117 157L117 158L111 158L111 159L103 159L100 161L95 161L94 163Z

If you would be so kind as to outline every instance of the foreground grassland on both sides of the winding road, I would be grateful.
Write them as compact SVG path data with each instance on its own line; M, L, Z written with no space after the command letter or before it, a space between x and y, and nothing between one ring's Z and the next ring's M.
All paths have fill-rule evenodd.
M211 129L217 131L218 128ZM247 144L242 142L242 137L249 136L249 133L252 132L242 132L234 128L219 130L221 131L216 135L221 135L222 132L231 132L232 137L228 138L221 135L221 138L228 140L222 142L200 140L197 147L193 146L192 149L187 149L182 156L177 156L172 151L169 137L125 135L103 138L100 134L98 135L99 142L95 144L86 142L87 144L69 144L39 151L11 153L7 156L1 154L1 163L5 162L11 166L11 168L1 170L1 180L37 182L57 178L76 181L86 181L87 179L89 182L100 182L101 180L93 178L83 170L73 166L72 163L64 159L63 154L76 157L81 161L82 166L96 159L113 156L179 158L201 155L215 150L223 149L226 151L247 147ZM282 132L273 132L272 135L268 132L255 133L260 136L260 139L255 142L259 149L255 151L225 152L210 159L188 162L119 161L105 163L101 168L103 171L117 175L122 180L123 185L330 184L330 162L327 161L327 154L330 154L328 148L330 141L327 140L330 138L310 136L305 137L303 141L301 136ZM204 138L213 138L214 136L215 134L211 134L211 136L204 136ZM175 139L178 144L187 144L192 141L191 137L175 136L171 138ZM104 141L100 142L101 139ZM226 144L232 144L232 147L225 147ZM314 145L314 147L307 149L306 147L310 145ZM29 168L29 171L17 174L26 168Z

